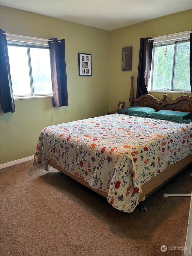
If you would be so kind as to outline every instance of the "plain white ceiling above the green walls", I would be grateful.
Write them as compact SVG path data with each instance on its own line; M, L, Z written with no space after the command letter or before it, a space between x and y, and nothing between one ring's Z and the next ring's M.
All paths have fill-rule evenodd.
M110 31L192 9L192 0L0 0L0 5Z

